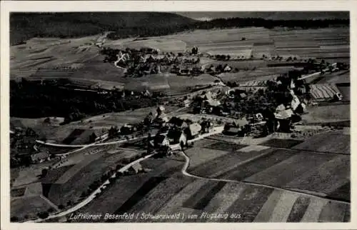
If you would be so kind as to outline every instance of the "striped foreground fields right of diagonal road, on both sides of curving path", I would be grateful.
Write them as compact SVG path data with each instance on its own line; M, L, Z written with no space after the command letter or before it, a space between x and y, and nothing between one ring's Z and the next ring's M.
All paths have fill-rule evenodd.
M148 159L142 164L151 171L119 179L80 211L181 215L119 222L350 221L349 155L274 140L269 146L198 141L185 150L186 172L194 176L182 174L180 157Z

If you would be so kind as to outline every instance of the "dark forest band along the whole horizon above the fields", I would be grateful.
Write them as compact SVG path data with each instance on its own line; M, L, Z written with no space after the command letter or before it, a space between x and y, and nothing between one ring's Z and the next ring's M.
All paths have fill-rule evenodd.
M120 12L116 14L56 13L24 14L10 16L10 42L23 44L33 37L74 38L114 31L109 39L123 39L134 36L164 36L194 29L228 29L235 27L258 26L271 29L277 26L289 28L323 28L348 26L349 19L318 20L271 20L262 18L213 19L195 21L177 14L159 12Z

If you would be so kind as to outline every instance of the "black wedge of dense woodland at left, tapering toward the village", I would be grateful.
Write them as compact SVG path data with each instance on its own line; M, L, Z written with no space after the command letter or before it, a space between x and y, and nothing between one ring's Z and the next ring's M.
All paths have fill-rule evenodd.
M109 94L74 91L54 84L31 81L10 82L10 116L39 118L64 117L65 123L89 115L156 106L155 98L140 95L122 97L122 91Z

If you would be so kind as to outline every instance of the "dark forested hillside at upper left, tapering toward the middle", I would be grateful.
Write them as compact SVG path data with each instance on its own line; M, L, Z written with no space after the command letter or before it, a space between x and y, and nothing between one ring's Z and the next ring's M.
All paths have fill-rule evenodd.
M33 37L79 37L102 31L132 32L139 26L157 28L194 22L185 16L159 12L12 13L10 41L19 44Z

